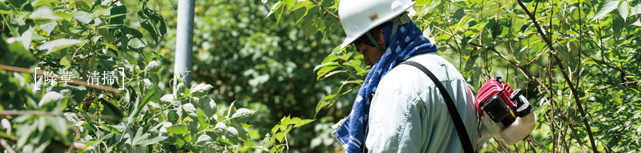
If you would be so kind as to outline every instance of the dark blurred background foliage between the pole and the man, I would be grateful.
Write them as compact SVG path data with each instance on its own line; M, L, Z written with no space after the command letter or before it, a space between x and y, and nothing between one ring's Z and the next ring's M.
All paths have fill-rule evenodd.
M171 4L160 1L160 5ZM311 110L316 108L316 102L332 93L332 86L328 84L339 82L332 78L314 81L314 65L330 54L339 42L340 31L326 34L325 40L320 32L306 35L297 28L301 23L289 22L298 16L284 14L279 21L266 17L270 11L261 1L196 1L194 10L192 84L211 84L208 93L216 102L235 102L235 106L256 111L247 121L253 125L247 131L254 140L262 140L286 116L313 119L316 112ZM159 14L167 19L167 33L176 33L176 19L173 19L177 17L176 11L163 7ZM308 13L306 17L320 15ZM167 34L163 39L175 38ZM159 53L164 55L162 64L173 65L174 44L159 46ZM348 113L348 104L347 100L341 100L331 106L332 112ZM219 108L223 106L229 103L218 104ZM331 121L323 120L323 123ZM327 134L330 126L318 130L307 125L291 129L287 135L289 152L327 152L339 147L327 143L327 146L309 149L311 140L318 134ZM254 143L262 145L261 141Z

